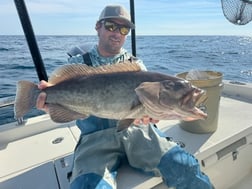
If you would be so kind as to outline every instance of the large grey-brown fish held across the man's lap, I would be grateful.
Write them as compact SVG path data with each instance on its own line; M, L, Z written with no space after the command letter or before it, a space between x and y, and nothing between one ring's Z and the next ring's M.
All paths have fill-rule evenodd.
M207 114L196 107L204 91L177 77L141 71L138 64L124 62L100 67L65 65L54 71L42 91L53 121L58 123L94 115L133 120L148 115L157 120L197 120ZM15 117L23 117L36 105L41 90L19 81ZM127 121L126 121L127 122Z

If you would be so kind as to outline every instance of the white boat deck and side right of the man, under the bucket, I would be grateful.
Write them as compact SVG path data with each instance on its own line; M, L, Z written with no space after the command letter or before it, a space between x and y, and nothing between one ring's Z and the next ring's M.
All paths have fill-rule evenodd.
M251 108L251 103L222 97L216 132L190 133L181 129L178 122L168 127L164 123L163 130L186 144L186 150L195 154L216 188L249 189L252 186Z

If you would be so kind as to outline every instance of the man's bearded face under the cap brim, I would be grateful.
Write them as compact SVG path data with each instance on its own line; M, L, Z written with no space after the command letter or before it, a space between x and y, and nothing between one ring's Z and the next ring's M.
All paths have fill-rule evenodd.
M120 26L127 26L125 21L120 19L110 19L115 24ZM120 52L121 47L123 46L126 36L120 33L119 29L115 31L110 31L105 28L104 22L101 23L100 27L97 28L99 36L99 51L103 56L113 56Z

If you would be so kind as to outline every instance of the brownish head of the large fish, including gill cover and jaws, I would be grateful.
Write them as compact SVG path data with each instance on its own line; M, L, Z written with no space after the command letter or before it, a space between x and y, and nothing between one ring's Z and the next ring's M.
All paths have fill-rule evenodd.
M196 107L205 91L186 80L175 78L144 82L135 91L152 118L192 121L207 117L206 113Z

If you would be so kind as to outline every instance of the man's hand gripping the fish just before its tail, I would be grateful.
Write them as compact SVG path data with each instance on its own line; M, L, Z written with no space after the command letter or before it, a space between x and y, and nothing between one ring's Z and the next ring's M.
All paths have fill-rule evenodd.
M52 86L52 84L42 80L39 84L38 84L38 88L39 89L45 89L46 87L50 87ZM36 107L39 110L43 110L45 112L49 112L48 106L45 104L46 102L46 93L45 92L41 92L37 98L37 103L36 103Z

